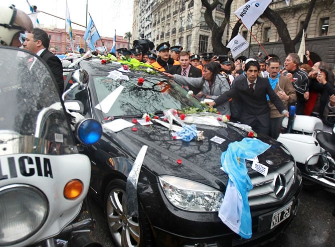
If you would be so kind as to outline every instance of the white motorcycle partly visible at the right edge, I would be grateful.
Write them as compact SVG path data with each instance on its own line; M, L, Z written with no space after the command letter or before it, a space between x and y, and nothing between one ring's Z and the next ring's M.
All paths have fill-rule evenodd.
M292 107L292 106L291 106ZM323 131L321 119L315 116L295 115L290 109L282 127L285 133L277 141L293 155L303 176L303 188L335 189L335 126L332 133Z

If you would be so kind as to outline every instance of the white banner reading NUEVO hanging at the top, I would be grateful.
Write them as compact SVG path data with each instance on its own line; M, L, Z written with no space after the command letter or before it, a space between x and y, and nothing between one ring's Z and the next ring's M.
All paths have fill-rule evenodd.
M255 21L263 14L272 0L250 0L242 5L234 14L242 21L244 26L250 30Z

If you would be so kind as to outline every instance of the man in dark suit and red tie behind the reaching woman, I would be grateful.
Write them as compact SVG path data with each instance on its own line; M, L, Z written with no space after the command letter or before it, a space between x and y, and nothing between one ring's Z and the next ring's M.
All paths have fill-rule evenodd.
M182 51L179 54L179 62L180 62L180 65L174 65L172 66L172 68L170 68L166 72L172 75L178 74L178 75L186 76L186 77L202 77L203 76L201 69L198 69L191 64L190 53L188 53L187 51ZM201 88L196 88L193 86L188 86L188 87L190 90L193 91L194 94L197 94L201 90Z

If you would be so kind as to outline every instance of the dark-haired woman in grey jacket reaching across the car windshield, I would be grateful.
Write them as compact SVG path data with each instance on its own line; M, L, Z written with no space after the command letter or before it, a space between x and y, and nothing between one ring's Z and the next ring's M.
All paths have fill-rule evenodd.
M176 81L180 82L183 85L190 85L201 89L201 91L196 95L200 100L205 99L216 99L225 91L230 89L229 82L227 79L221 75L221 65L216 62L208 63L204 65L204 74L203 77L191 78L181 75L172 75L169 73L163 72L165 75L174 78ZM230 115L229 102L220 105L217 107L217 110L221 114Z

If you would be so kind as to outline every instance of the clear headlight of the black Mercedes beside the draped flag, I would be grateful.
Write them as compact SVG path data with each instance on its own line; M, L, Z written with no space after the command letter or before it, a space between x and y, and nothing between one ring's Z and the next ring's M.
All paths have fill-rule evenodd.
M169 201L178 208L195 212L219 211L223 193L205 184L192 180L159 176L162 187Z

